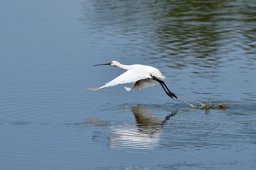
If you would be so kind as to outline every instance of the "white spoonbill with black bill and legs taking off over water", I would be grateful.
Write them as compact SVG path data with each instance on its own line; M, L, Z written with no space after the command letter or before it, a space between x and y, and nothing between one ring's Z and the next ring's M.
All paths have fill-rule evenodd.
M120 68L122 70L125 70L126 72L124 72L123 74L121 74L120 76L115 78L114 80L111 80L110 82L105 83L104 86L101 86L101 87L96 88L96 89L87 89L87 88L85 88L85 90L98 91L100 89L103 89L104 87L135 82L135 84L132 88L125 87L125 89L127 91L137 89L139 91L143 88L147 88L147 87L151 87L151 86L154 86L154 85L157 85L157 84L161 84L162 88L165 90L165 93L167 95L169 95L172 99L173 99L173 97L178 99L175 96L175 94L172 93L167 88L167 86L165 85L165 82L162 81L162 80L165 80L166 77L163 76L162 73L157 68L154 68L154 67L151 67L151 66L145 66L145 65L141 65L141 64L123 65L123 64L120 64L117 61L112 61L112 62L107 63L107 64L98 64L98 65L94 65L94 66L99 66L99 65L111 65L111 66Z

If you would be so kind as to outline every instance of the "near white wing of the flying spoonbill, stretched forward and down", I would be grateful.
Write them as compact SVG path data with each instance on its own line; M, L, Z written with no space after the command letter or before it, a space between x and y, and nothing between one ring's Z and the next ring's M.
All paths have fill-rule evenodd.
M152 77L150 76L150 74L145 74L145 72L142 72L141 70L134 68L134 69L127 70L126 72L124 72L123 74L121 74L120 76L115 78L114 80L111 80L110 82L107 82L106 85L104 85L104 86L101 86L101 87L96 88L96 89L87 89L87 88L85 88L85 90L97 91L97 90L100 90L104 87L136 82L138 80L147 79L147 78L152 78Z

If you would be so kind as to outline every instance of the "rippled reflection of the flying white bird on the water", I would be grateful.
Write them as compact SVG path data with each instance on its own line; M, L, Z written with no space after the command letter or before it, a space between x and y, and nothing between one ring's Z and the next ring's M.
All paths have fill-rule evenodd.
M133 106L131 111L135 124L108 126L108 130L111 129L111 132L108 132L110 134L108 146L111 149L154 149L159 145L163 125L177 113L173 111L161 121L146 107Z

